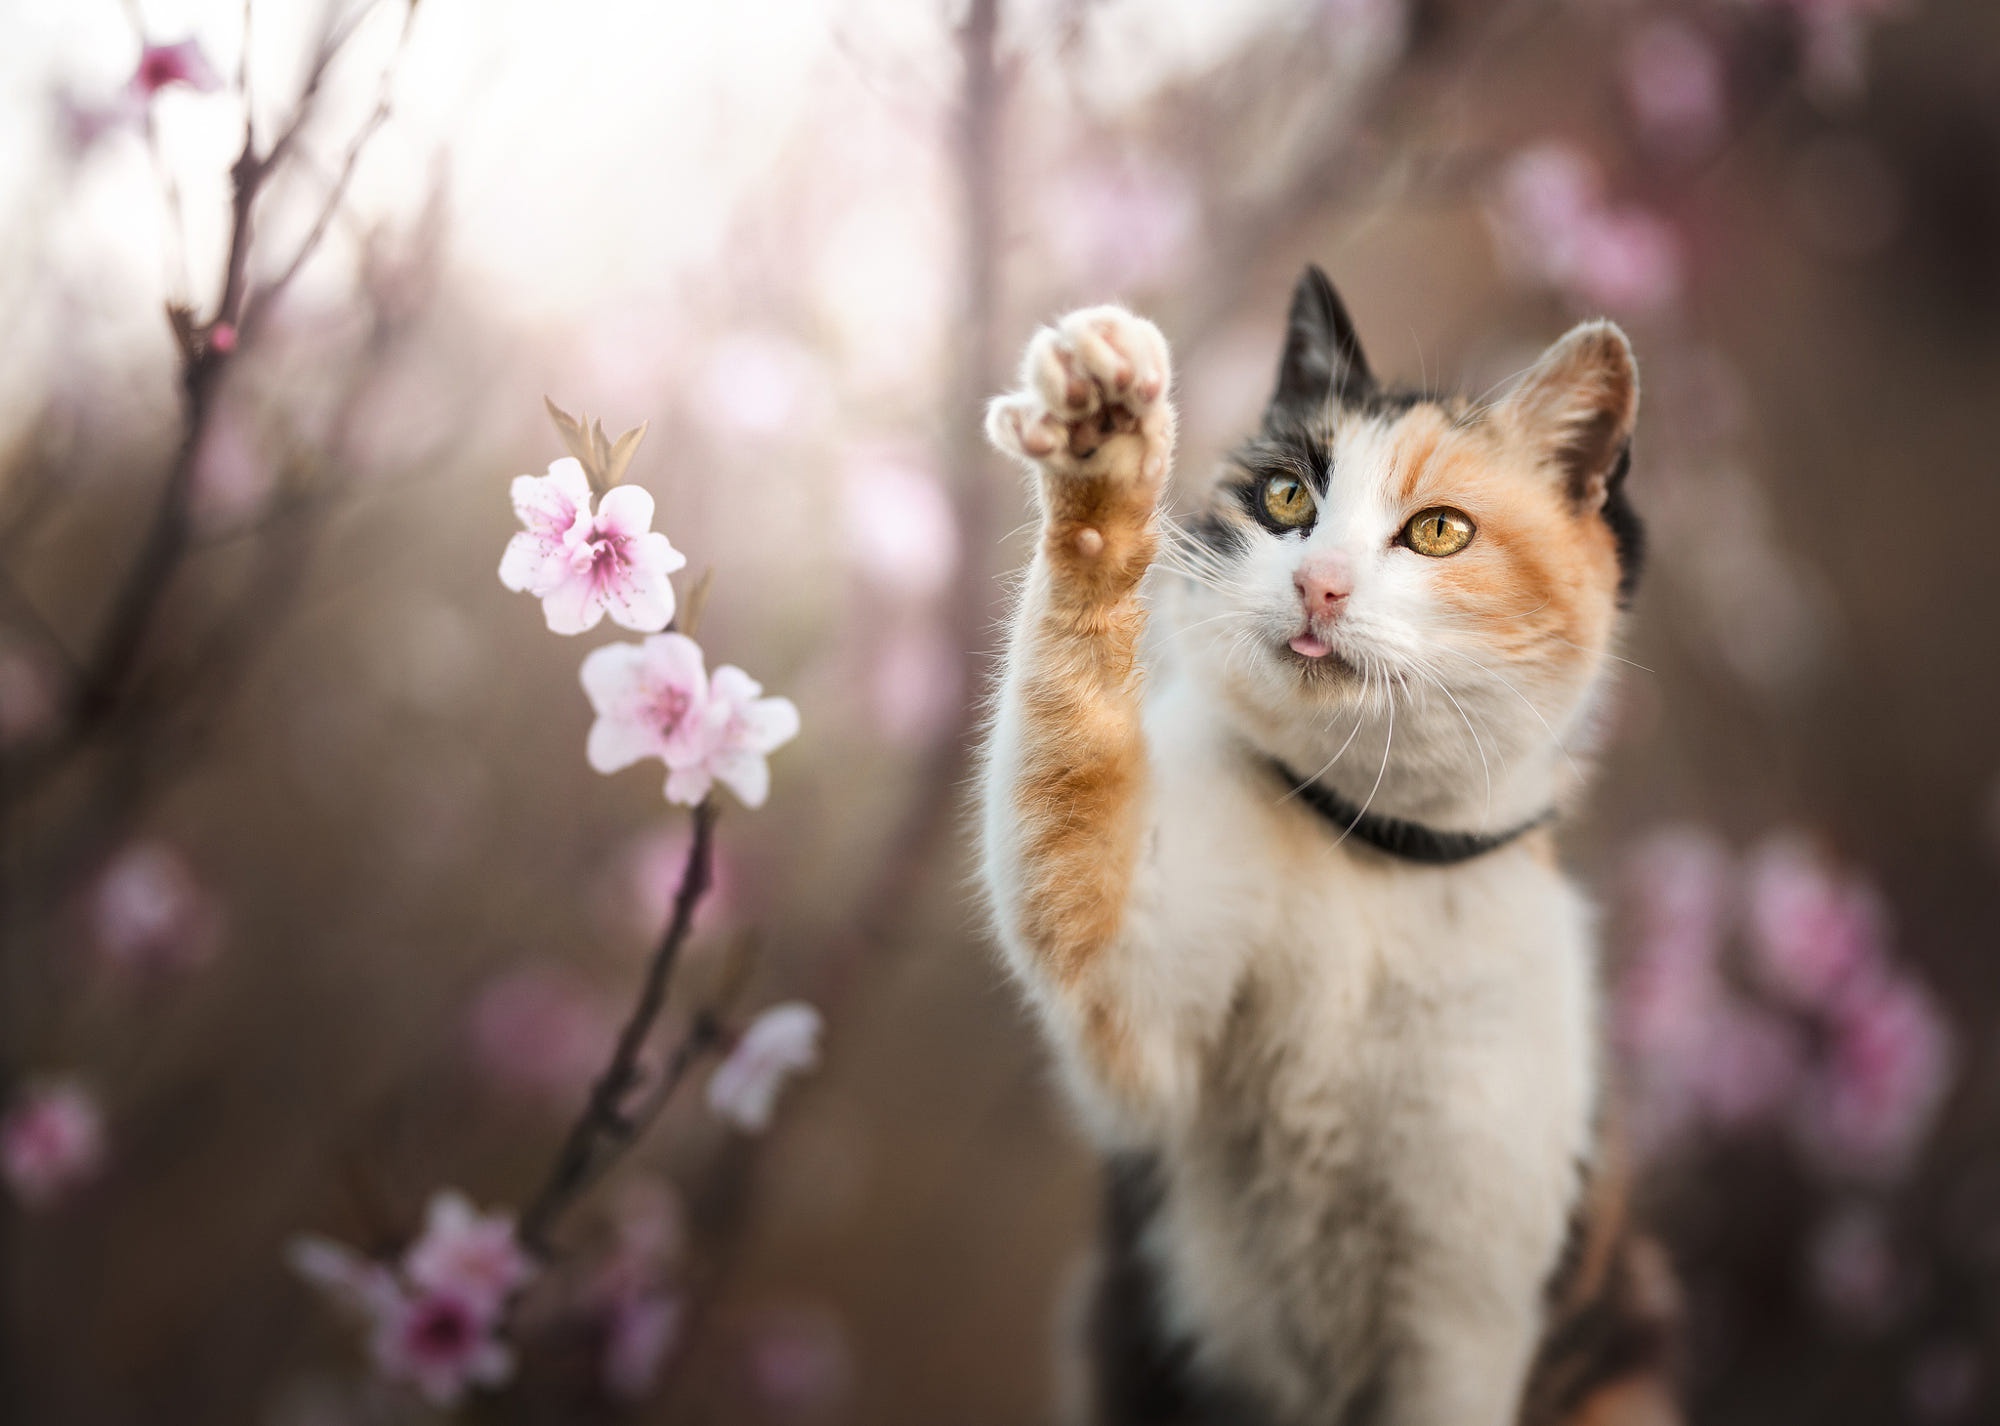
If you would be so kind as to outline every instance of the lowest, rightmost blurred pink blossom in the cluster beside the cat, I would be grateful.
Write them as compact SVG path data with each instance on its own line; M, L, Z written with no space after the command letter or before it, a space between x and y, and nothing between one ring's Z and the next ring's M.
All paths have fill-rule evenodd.
M1950 1028L1916 982L1878 972L1846 982L1828 1032L1826 1062L1800 1102L1800 1138L1830 1172L1900 1174L1950 1088Z

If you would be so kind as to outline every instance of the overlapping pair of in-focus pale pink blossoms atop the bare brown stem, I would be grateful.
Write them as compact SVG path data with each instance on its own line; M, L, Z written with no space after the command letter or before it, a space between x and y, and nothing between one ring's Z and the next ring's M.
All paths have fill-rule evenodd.
M764 698L762 684L732 664L706 678L702 646L684 634L596 648L582 680L598 714L590 766L618 772L660 758L668 802L692 806L720 782L744 806L762 806L770 792L764 758L798 736L790 698Z

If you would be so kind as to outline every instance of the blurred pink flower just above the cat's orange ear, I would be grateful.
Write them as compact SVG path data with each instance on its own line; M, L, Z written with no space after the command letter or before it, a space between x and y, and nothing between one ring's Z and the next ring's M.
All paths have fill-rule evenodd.
M1488 224L1510 274L1572 302L1648 314L1680 296L1680 238L1656 214L1604 204L1596 162L1570 144L1538 144L1500 172Z

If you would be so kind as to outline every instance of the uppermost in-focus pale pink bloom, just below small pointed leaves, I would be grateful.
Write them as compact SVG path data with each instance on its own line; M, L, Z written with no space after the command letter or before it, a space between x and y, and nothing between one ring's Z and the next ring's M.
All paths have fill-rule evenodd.
M556 634L582 634L608 612L614 624L652 632L674 618L668 578L688 562L652 530L652 496L638 486L604 492L590 514L590 478L566 456L546 476L514 480L520 534L508 540L500 582L542 600Z

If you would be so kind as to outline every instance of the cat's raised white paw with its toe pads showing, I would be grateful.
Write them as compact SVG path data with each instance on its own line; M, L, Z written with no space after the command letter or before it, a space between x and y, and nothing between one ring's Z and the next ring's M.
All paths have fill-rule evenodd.
M1160 328L1118 306L1082 308L1034 334L1018 388L986 412L986 434L1052 476L1158 490L1174 446L1170 382Z

